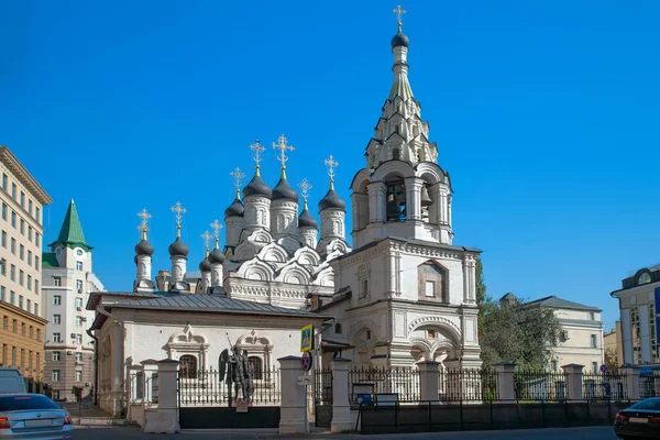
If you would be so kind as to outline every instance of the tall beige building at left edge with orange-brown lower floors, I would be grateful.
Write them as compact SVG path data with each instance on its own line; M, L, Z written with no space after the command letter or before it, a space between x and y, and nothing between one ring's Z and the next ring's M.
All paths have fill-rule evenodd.
M0 146L0 178L1 362L41 380L46 324L40 295L42 215L53 200L7 146Z

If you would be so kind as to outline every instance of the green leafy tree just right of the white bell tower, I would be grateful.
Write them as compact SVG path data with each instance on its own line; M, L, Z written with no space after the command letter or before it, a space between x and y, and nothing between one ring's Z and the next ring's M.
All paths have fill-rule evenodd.
M515 301L501 306L486 298L480 321L484 365L515 362L522 369L547 369L552 344L561 338L561 326L551 309Z

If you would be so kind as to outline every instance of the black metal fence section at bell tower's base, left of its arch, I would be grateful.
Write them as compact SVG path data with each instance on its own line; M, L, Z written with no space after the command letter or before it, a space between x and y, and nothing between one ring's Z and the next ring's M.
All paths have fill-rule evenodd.
M419 370L408 366L353 367L349 370L349 402L361 403L365 395L396 395L397 402L421 399Z

